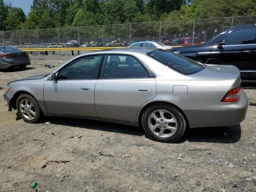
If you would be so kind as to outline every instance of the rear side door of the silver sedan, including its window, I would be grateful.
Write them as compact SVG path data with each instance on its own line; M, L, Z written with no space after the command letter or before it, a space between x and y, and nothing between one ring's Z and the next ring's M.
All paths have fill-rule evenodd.
M110 58L118 58L111 60ZM95 106L100 118L136 121L142 104L156 96L156 80L132 56L106 55L95 86Z

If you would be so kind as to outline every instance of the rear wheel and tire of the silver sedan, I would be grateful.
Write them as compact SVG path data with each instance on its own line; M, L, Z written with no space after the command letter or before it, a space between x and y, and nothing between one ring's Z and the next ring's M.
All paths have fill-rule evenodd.
M155 141L173 143L185 133L186 120L182 111L171 104L152 104L142 115L146 134Z

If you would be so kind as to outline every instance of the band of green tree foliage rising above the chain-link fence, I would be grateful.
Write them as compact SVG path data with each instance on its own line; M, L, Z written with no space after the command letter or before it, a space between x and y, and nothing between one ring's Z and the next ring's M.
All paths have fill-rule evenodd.
M256 15L256 0L34 0L27 17L20 8L0 0L0 30L244 15Z

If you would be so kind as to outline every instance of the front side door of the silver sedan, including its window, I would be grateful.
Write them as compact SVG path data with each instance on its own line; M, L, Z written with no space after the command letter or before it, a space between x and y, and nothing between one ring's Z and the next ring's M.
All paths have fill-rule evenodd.
M102 55L72 61L57 74L57 80L44 84L44 102L50 114L97 117L94 88Z

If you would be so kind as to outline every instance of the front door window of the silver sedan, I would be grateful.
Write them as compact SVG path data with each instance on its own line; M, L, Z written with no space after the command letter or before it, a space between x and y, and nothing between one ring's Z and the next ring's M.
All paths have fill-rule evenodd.
M102 55L79 58L58 73L58 80L96 79L101 59Z

